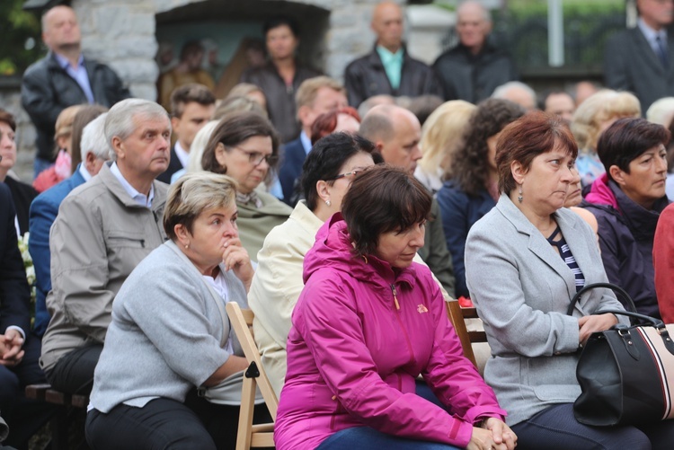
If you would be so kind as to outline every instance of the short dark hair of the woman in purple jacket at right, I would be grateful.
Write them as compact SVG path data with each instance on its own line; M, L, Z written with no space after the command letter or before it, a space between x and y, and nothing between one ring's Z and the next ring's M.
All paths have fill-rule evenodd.
M654 146L667 146L670 137L670 130L646 119L618 119L599 137L597 154L608 178L613 180L609 172L612 165L629 173L634 159Z

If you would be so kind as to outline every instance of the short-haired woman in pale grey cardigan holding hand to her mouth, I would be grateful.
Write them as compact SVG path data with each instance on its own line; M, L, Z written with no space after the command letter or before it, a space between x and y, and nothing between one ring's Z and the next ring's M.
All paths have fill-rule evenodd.
M92 448L235 448L248 365L225 303L246 306L253 278L236 217L229 177L197 172L172 185L170 240L138 264L112 304L86 420ZM198 395L224 380L225 404ZM255 412L269 419L263 404Z

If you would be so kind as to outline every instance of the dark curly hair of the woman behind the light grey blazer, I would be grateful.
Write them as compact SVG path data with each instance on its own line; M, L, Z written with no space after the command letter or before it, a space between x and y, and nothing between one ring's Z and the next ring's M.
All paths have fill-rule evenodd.
M501 132L510 122L525 114L519 104L503 99L487 99L477 105L462 142L451 155L446 180L453 180L469 196L484 190L489 176L487 139Z

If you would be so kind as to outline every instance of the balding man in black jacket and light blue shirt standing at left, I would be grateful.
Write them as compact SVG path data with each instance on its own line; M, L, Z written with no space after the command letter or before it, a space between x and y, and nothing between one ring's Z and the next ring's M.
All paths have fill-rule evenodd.
M84 58L75 11L65 5L42 16L42 40L49 53L23 74L23 109L37 128L35 175L54 162L54 126L68 106L98 103L111 107L130 97L120 77L104 64Z

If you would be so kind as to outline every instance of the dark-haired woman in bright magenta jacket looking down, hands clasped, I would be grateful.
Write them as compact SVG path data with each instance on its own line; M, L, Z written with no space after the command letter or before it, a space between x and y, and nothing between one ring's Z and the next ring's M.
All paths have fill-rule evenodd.
M463 356L437 283L412 263L430 195L376 166L352 182L341 214L306 254L277 449L512 450L517 437ZM420 374L447 410L415 394Z

